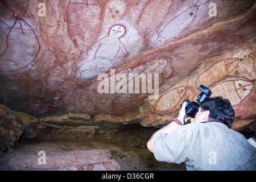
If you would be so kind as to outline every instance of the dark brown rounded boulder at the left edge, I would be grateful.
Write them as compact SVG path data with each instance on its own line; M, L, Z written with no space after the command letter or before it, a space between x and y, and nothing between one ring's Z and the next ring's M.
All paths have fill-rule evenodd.
M13 148L23 131L24 125L19 116L0 104L0 151Z

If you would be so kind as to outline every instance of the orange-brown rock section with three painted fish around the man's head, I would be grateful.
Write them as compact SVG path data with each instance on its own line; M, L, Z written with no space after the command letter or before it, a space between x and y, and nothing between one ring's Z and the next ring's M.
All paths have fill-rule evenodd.
M185 99L196 101L200 94L198 88L201 84L212 90L212 97L228 98L237 118L247 119L244 121L246 123L251 121L250 117L254 115L251 108L255 107L253 101L255 97L253 93L255 80L253 50L255 47L251 42L254 42L254 39L238 44L246 45L244 49L239 46L240 49L236 52L209 59L207 64L196 69L195 74L191 73L189 79L185 78L166 92L160 93L159 100L148 101L151 105L150 110L141 125L166 125L168 121L177 117L182 101ZM242 108L246 108L246 114L243 113ZM168 121L161 118L168 118ZM242 122L243 119L236 121Z

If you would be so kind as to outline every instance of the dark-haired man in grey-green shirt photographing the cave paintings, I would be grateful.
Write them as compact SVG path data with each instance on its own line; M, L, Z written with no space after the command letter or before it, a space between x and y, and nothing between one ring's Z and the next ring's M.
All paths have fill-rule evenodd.
M209 98L187 125L183 122L185 105L175 121L148 141L147 148L156 160L184 162L187 170L256 170L256 148L230 129L234 110L229 100Z

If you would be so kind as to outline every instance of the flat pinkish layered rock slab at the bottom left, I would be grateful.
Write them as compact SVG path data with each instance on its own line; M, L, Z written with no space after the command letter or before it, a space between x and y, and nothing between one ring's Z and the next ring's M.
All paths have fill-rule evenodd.
M15 154L15 156L14 156ZM45 154L45 153L44 153ZM46 163L35 153L16 151L3 154L2 170L102 171L121 170L108 150L69 151L47 154Z

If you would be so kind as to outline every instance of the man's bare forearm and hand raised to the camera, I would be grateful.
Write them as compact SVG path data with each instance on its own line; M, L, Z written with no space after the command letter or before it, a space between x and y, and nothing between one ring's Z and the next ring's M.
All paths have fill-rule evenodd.
M186 106L186 105L187 105L187 102L185 102L185 103L182 105L182 107L181 107L181 109L180 109L180 111L179 111L179 116L176 118L176 119L178 119L178 120L182 123L182 125L184 125L183 119L184 119L184 117L185 117L185 115L186 115L186 113L185 113L185 106ZM156 131L156 132L152 135L152 137L150 138L150 140L148 140L148 142L147 142L147 148L148 148L148 150L151 151L152 153L154 152L153 147L154 147L154 140L155 140L156 135L158 135L159 133L162 133L162 134L171 134L172 132L174 132L175 130L177 130L177 127L178 127L178 126L179 126L179 125L178 125L176 122L172 121L172 122L169 123L167 126L164 126L162 129Z

